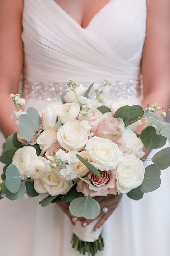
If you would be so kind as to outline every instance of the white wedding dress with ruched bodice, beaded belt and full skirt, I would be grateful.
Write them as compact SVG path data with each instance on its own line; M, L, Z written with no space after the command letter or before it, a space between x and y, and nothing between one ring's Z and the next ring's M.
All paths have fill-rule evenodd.
M63 85L70 79L119 81L114 95L118 99L127 95L131 104L139 103L134 81L140 75L146 18L146 0L110 0L83 29L55 0L24 0L27 107L40 111L51 100L60 104ZM104 224L105 250L97 256L170 255L170 170L162 170L161 178L161 187L140 201L123 196ZM0 255L79 255L71 248L68 217L56 204L39 206L40 200L0 201Z

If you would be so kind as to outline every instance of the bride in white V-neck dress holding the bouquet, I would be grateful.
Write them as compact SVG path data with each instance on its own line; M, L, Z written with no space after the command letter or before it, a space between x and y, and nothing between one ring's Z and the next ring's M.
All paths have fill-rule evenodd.
M14 107L9 94L18 93L21 74L27 107L39 111L51 101L60 104L70 79L80 84L106 78L113 82L111 99L128 98L130 104L141 102L143 108L153 101L168 107L169 10L169 0L1 0L0 129L4 136L17 129L10 118ZM170 170L163 170L161 178L160 189L141 201L126 195L101 200L101 207L109 211L95 226L104 223L105 250L98 256L169 255ZM66 204L43 208L38 201L0 201L1 255L79 255L70 244L72 225L81 221L85 227L90 221L71 216Z

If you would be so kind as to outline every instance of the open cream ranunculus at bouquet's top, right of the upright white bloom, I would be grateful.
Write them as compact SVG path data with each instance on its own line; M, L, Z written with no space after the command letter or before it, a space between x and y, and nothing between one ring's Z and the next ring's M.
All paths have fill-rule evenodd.
M61 123L77 118L80 112L80 105L77 102L66 103L58 107L58 116L60 117Z

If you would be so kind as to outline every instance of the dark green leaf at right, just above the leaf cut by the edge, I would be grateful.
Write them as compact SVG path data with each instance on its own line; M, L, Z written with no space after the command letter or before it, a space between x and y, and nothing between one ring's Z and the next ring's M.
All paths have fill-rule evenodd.
M145 148L147 150L161 148L166 143L166 138L156 134L156 129L153 126L146 127L140 134Z

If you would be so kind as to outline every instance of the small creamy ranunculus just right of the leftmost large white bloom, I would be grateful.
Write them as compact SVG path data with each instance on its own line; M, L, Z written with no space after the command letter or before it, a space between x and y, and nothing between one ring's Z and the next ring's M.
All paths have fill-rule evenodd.
M46 172L46 158L38 157L37 160L34 160L30 163L29 170L27 171L27 177L31 179L39 179Z

